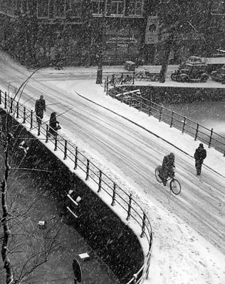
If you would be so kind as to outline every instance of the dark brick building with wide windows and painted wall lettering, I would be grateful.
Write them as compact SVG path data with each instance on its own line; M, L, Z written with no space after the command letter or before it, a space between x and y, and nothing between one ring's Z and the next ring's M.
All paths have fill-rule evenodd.
M12 0L13 1L13 0ZM25 64L121 64L143 58L145 0L14 0L14 53ZM9 38L9 35L6 35Z

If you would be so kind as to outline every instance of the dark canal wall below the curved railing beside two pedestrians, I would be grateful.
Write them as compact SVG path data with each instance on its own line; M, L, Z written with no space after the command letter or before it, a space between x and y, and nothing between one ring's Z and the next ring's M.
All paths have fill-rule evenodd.
M2 109L0 109L0 116L4 121L5 112ZM15 124L16 121L11 121L11 123ZM20 167L49 171L29 172L34 185L45 194L48 192L49 195L53 195L60 202L61 214L66 217L66 222L75 227L91 248L98 253L98 256L108 264L121 283L127 283L144 263L142 247L134 232L121 222L108 205L100 200L98 194L90 190L75 173L71 173L66 165L43 143L38 139L33 139L35 137L23 126L19 125L13 135L31 139L26 140L29 151L23 163L21 163L22 152L21 155L19 153L15 155L15 151L11 153L14 159L21 163ZM20 142L21 140L13 139L12 145L16 148ZM66 209L68 204L71 209L73 208L73 203L66 197L69 190L74 190L74 199L81 197L79 206L74 209L78 219L75 219Z

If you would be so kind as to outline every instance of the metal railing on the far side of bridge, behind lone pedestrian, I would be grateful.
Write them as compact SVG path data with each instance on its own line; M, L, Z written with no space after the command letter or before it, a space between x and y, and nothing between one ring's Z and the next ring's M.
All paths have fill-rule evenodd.
M214 129L207 129L206 127L198 124L192 119L177 114L177 112L163 107L162 104L155 104L151 100L145 99L140 93L140 89L133 91L127 91L125 88L116 86L113 88L113 92L110 96L118 99L120 102L128 104L130 107L135 107L139 111L143 111L148 116L154 116L169 124L170 127L174 127L194 137L194 140L199 140L210 147L216 149L225 156L225 137L214 132Z

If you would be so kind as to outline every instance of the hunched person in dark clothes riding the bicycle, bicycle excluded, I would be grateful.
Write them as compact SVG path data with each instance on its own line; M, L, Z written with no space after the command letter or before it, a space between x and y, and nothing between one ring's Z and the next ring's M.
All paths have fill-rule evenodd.
M169 155L165 155L162 161L162 170L159 173L159 178L161 178L163 185L167 185L167 178L174 177L174 153L170 153Z

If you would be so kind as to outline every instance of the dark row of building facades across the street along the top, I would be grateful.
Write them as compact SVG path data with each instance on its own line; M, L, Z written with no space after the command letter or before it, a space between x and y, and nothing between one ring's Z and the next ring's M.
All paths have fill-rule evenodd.
M107 65L125 60L160 64L169 28L179 23L170 53L170 62L178 63L189 55L211 53L212 45L223 43L224 16L213 16L214 11L221 14L223 3L0 0L1 7L14 10L1 33L1 46L26 65L48 65L56 58L66 58L64 65L98 65L100 55Z

